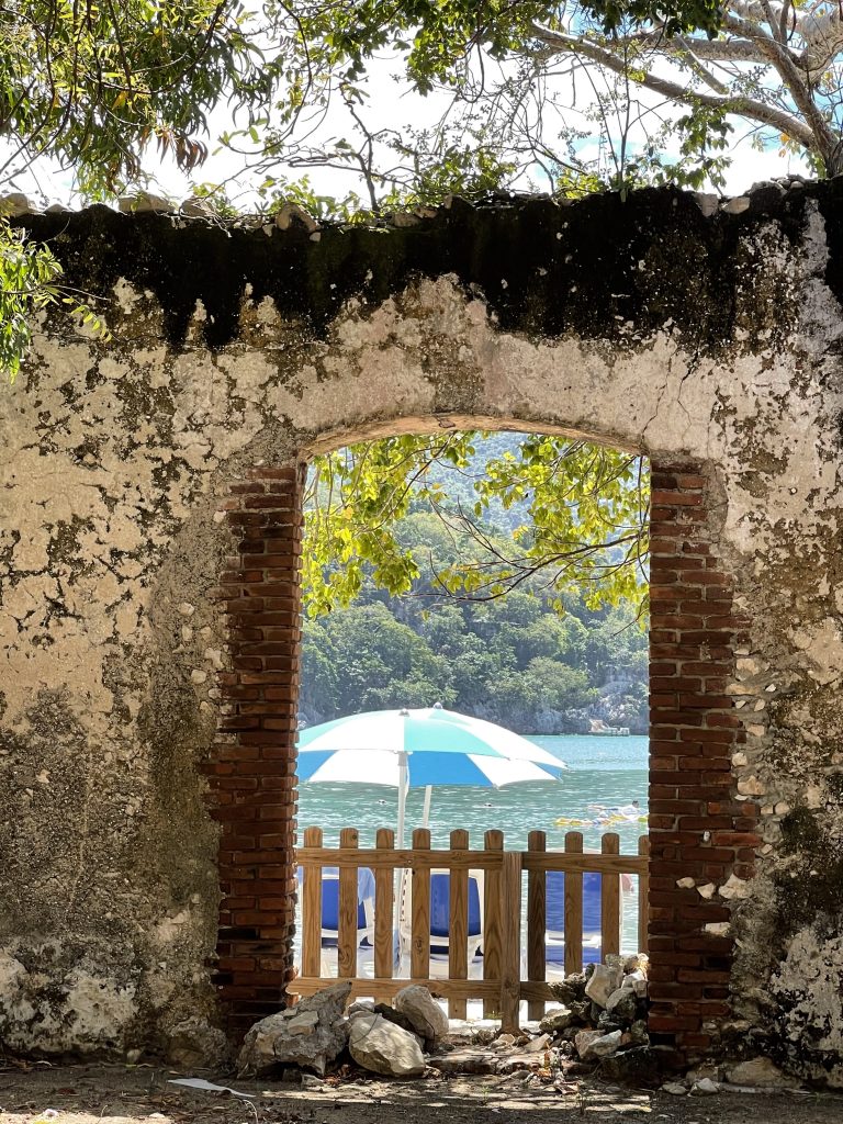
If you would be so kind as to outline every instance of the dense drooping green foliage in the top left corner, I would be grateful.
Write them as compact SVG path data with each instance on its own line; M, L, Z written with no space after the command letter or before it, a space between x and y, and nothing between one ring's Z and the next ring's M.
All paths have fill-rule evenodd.
M196 167L220 99L269 92L256 31L234 0L0 4L0 182L46 155L102 198L137 180L151 143Z

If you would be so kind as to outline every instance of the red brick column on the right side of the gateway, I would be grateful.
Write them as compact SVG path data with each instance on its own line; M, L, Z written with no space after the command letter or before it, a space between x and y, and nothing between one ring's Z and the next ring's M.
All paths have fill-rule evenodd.
M708 480L653 465L650 633L650 1032L704 1052L708 1021L728 1014L732 940L715 889L752 874L758 809L735 799L732 754L744 741L726 694L743 622L713 542ZM695 885L680 887L681 879Z

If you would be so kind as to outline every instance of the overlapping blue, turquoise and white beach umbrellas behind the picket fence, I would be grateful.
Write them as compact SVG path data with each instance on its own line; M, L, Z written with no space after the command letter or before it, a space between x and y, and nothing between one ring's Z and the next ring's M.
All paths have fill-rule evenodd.
M389 785L398 789L398 837L409 788L477 785L500 788L531 780L556 780L568 768L525 737L482 718L436 705L414 710L370 710L299 733L302 781Z

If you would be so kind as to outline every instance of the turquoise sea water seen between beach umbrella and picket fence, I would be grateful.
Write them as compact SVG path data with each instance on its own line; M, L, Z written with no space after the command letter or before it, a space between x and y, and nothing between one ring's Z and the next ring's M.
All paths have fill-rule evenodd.
M558 781L532 781L505 788L434 788L430 806L433 845L446 847L448 834L461 827L469 832L470 845L481 847L483 832L504 832L504 846L526 847L527 835L547 833L547 850L562 850L566 831L580 831L586 850L600 850L607 832L620 836L622 853L637 853L646 823L595 824L596 806L617 807L633 800L646 815L647 738L597 735L535 736L529 741L561 758L569 767ZM321 827L325 846L336 846L342 827L356 827L360 845L373 846L379 827L396 826L397 790L382 785L325 785L305 782L299 787L299 839L305 827ZM423 789L410 789L407 800L407 845L414 827L422 826ZM558 825L560 818L588 821L586 825ZM637 879L634 879L637 882ZM624 895L623 950L636 951L637 885Z

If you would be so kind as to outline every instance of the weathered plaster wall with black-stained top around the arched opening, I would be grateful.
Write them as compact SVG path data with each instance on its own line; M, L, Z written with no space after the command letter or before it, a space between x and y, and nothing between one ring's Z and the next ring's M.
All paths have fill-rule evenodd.
M108 298L115 338L45 323L26 373L0 395L9 1048L161 1051L185 1019L220 1017L220 840L248 867L236 821L220 815L220 778L250 807L271 772L261 738L250 750L236 722L220 729L236 717L230 688L250 686L233 661L263 643L228 636L237 608L218 599L223 574L248 586L230 513L248 508L255 470L289 480L302 452L344 434L484 419L638 448L665 479L685 466L697 491L704 482L698 515L676 495L664 504L728 587L727 642L711 653L695 627L688 602L708 597L699 578L698 595L656 610L671 634L659 642L674 652L660 694L676 711L662 699L660 740L681 744L697 724L692 696L707 690L701 671L683 683L683 659L727 670L711 673L723 678L713 710L736 724L723 727L719 780L698 777L713 799L697 796L692 817L659 813L653 840L672 868L651 931L664 937L668 909L704 948L725 942L701 970L732 1014L700 1025L696 1004L691 1046L737 1033L843 1084L840 198L835 182L769 185L713 214L710 200L669 191L565 208L455 201L390 230L223 229L105 208L25 220L71 282ZM294 628L278 627L268 643L294 654ZM682 652L689 629L700 635ZM289 689L279 701L289 710ZM287 764L290 736L288 722ZM659 752L672 787L700 768ZM277 826L289 827L284 791ZM731 852L706 826L724 799L732 825L742 805L760 814ZM274 834L287 859L289 832ZM707 847L720 854L707 861ZM290 903L278 882L279 958L261 996L224 979L229 1003L280 995ZM238 926L237 909L223 903L224 926ZM685 953L670 955L662 994L679 1017Z

